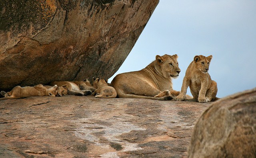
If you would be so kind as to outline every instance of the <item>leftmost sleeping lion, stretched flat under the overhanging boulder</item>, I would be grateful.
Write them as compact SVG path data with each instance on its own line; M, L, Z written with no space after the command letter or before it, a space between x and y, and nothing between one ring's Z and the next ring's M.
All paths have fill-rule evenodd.
M10 92L4 92L1 91L0 93L4 96L4 98L0 98L0 100L3 99L20 99L20 98L26 98L31 96L55 96L57 93L58 86L55 85L49 89L45 88L42 84L38 84L34 87L26 86L26 87L20 87L16 86L14 87Z

